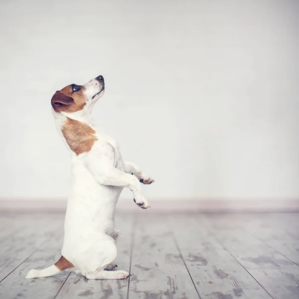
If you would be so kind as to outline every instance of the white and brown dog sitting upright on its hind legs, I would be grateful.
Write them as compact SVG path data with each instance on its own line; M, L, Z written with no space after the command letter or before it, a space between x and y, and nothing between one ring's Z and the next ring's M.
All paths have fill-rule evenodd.
M30 270L26 278L52 276L65 269L87 279L129 276L123 270L107 271L116 266L115 206L128 187L139 207L150 208L140 182L150 184L153 179L134 163L124 162L115 140L94 125L91 112L104 89L104 78L98 76L85 85L68 85L51 99L56 127L71 152L71 192L61 258L44 270Z

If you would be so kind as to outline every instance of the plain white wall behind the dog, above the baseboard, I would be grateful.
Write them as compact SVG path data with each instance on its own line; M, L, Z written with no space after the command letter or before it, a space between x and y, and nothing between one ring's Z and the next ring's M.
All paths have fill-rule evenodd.
M52 94L102 74L94 117L149 197L299 196L299 1L0 2L0 197L66 196Z

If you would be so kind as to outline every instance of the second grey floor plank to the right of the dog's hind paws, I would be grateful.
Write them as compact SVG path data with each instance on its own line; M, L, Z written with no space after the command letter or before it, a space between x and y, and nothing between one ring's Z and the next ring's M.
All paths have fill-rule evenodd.
M271 298L199 221L172 215L168 223L201 298Z

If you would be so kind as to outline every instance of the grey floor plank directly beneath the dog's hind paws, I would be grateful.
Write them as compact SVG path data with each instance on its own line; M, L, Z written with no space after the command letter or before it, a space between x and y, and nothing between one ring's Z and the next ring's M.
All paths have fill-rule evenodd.
M116 229L121 231L118 240L117 269L130 269L130 248L132 236L132 215L116 215ZM87 280L72 272L58 293L57 299L87 297L90 299L125 299L128 293L129 279L126 280Z

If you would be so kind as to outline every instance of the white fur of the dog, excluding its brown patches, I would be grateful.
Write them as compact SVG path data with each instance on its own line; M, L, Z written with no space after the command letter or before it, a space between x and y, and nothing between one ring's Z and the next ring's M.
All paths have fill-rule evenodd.
M56 113L53 110L56 127L63 140L61 127L67 117L93 128L98 139L89 152L76 155L70 149L71 189L61 254L75 266L77 273L82 273L86 278L124 279L129 275L126 271L104 270L114 268L117 257L116 239L119 232L114 229L115 206L123 188L128 187L136 203L149 208L139 179L150 178L135 164L124 162L116 141L94 125L91 111L104 90L92 97L104 86L93 79L85 87L87 102L83 110L75 113ZM51 276L58 273L57 270L54 265L41 271L31 270L27 278Z

